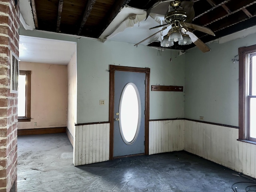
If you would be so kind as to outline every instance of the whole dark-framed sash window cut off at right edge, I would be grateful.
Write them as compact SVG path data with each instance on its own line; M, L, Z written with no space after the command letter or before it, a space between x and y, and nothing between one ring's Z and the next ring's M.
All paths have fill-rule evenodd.
M256 45L239 51L239 140L256 144Z

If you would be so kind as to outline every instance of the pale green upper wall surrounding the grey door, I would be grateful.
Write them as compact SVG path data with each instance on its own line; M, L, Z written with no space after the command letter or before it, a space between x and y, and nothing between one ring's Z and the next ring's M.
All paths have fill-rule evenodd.
M149 67L150 85L184 86L184 56L170 62L170 50L78 39L78 123L108 121L109 65ZM183 92L150 91L150 119L183 118ZM99 105L105 100L105 106Z

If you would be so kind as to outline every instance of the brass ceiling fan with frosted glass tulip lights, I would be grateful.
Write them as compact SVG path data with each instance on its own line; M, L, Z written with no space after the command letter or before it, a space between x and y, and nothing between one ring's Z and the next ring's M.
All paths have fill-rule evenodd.
M206 44L204 44L204 42L202 42L192 32L192 30L198 30L212 36L215 36L215 34L209 28L190 23L195 16L193 4L194 2L186 0L161 0L155 3L151 8L147 10L146 18L148 18L151 12L156 14L165 14L164 21L166 22L166 24L150 28L151 30L163 27L160 31L152 34L141 42L138 42L134 46L137 46L138 44L146 41L155 34L166 30L168 26L171 26L172 28L164 36L161 42L162 47L171 47L174 45L174 42L178 42L178 44L180 45L188 45L193 42L202 52L210 51L210 48ZM166 10L167 6L167 12L164 11L163 13L163 10Z

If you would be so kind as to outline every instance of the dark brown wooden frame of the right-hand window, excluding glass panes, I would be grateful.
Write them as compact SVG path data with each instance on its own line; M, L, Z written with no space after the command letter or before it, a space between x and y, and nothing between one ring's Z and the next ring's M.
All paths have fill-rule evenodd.
M239 138L238 140L256 144L256 138L250 137L250 95L252 88L252 75L250 67L252 63L248 58L248 54L256 55L256 45L238 48L239 53ZM248 76L249 75L249 76ZM250 78L249 78L250 77Z

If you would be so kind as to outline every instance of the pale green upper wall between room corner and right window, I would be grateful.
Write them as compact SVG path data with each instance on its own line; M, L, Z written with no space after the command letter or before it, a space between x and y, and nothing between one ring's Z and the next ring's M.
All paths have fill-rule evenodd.
M256 44L256 34L186 53L185 118L238 126L238 48Z

